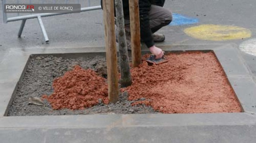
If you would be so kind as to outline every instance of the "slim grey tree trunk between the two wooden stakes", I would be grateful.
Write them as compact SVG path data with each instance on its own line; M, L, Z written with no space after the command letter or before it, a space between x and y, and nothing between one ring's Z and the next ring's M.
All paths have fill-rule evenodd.
M130 74L129 57L126 45L126 35L124 30L124 12L122 0L115 0L116 7L116 25L118 30L118 46L121 66L121 86L127 87L132 85Z

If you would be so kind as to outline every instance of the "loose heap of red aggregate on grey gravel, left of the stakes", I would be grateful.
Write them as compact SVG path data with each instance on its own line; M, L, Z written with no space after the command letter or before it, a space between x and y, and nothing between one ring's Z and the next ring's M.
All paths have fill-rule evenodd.
M100 77L91 69L75 66L63 77L53 81L54 92L47 99L53 109L85 109L98 104L101 98L108 104L108 86L105 78Z

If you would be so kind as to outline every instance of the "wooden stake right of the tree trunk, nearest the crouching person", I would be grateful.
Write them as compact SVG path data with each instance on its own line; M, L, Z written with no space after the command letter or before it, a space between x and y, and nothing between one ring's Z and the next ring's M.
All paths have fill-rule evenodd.
M134 67L138 67L141 63L140 15L139 15L138 0L129 0L129 9L130 9L132 64Z

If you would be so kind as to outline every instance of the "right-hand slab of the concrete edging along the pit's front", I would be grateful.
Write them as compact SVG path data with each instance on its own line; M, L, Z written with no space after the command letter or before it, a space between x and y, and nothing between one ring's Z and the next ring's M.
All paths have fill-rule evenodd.
M123 115L124 126L186 126L255 124L254 113Z

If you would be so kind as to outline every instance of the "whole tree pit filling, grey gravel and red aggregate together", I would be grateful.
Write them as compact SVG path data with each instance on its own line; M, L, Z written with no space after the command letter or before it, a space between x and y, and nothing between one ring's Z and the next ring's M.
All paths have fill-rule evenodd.
M32 55L8 115L242 112L214 52L165 57L169 62L131 68L133 83L120 89L120 101L113 104L104 57ZM41 97L46 106L28 105L29 96Z

